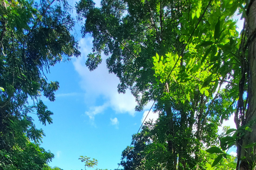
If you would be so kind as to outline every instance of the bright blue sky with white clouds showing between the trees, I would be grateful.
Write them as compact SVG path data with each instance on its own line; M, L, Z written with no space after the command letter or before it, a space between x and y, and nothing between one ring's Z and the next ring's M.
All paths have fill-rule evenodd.
M75 5L75 1L69 3ZM99 6L99 1L96 4ZM130 145L131 135L138 131L152 103L143 112L134 111L136 102L130 92L118 94L119 79L108 73L106 56L103 56L102 64L90 72L85 61L91 52L92 38L82 39L79 31L78 24L75 33L81 56L56 64L47 75L49 81L60 83L55 93L56 101L42 98L54 113L53 124L35 123L46 134L41 146L55 154L50 166L64 170L84 169L84 164L78 160L83 155L96 158L99 161L97 168L113 170L118 167L122 150ZM157 114L151 112L147 119L156 118ZM232 121L225 122L225 126L233 127Z

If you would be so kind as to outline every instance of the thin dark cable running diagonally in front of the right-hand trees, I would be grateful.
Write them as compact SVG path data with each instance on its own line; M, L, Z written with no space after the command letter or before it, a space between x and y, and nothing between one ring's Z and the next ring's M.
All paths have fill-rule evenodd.
M205 14L205 12L207 11L208 7L210 6L211 2L212 2L212 0L210 0L210 1L209 1L209 3L207 4L207 6L206 6L206 8L205 8L204 12L203 12L203 13L202 13L202 15L199 17L198 22L197 22L197 24L196 24L196 26L195 26L195 28L194 28L193 32L192 32L192 33L191 33L191 35L189 36L189 39L188 39L188 41L187 41L187 42L189 42L189 41L190 41L191 37L193 36L193 34L194 34L194 32L195 32L195 30L196 30L197 26L199 25L200 21L202 20L202 18L203 18L203 16L204 16L204 14ZM182 49L181 49L181 55L178 57L177 61L175 62L174 66L173 66L173 68L172 68L171 72L169 73L169 75L168 75L167 79L165 80L165 82L164 82L163 86L167 83L167 81L168 81L168 79L169 79L169 77L170 77L170 75L171 75L172 71L174 70L174 68L175 68L176 64L178 63L178 61L179 61L180 57L181 57L181 56L183 57L183 55L184 55L184 50L185 50L186 46L187 46L187 43L184 43L184 45L183 45L183 47L182 47ZM149 112L151 111L151 109L153 108L153 106L154 106L154 104L155 104L155 103L156 103L156 99L154 100L154 103L153 103L153 105L151 106L150 110L148 111L148 114L147 114L147 116L145 117L144 121L142 122L142 124L141 124L141 126L140 126L140 128L139 128L138 132L135 134L135 137L136 137L136 136L137 136L137 134L139 133L139 131L140 131L141 127L143 126L143 124L144 124L144 122L145 122L146 118L147 118L147 117L148 117L148 115L149 115ZM128 149L129 149L131 146L132 146L132 143L130 144L130 146L128 147ZM125 153L124 157L127 155L127 153L128 153L128 152L126 152L126 153ZM120 167L120 164L118 165L117 170L119 169L119 167Z

